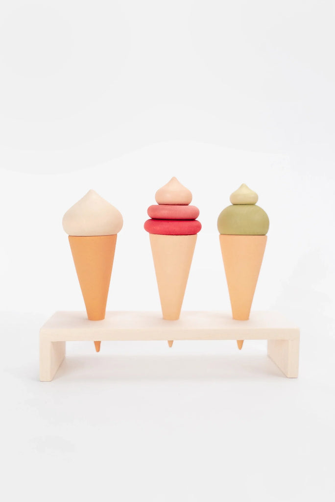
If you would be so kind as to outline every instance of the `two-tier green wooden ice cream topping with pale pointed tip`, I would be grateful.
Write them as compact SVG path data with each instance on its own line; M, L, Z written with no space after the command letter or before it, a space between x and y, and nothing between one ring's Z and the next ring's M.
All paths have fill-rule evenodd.
M269 218L256 206L258 195L243 184L230 196L231 206L219 214L218 230L223 235L266 235Z

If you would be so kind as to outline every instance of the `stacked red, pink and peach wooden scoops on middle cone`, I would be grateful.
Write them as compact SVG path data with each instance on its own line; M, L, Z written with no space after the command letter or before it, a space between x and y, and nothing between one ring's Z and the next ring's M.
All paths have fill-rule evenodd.
M194 235L201 230L196 218L199 209L190 206L192 193L177 178L159 188L156 192L157 205L149 206L148 219L144 229L159 235Z

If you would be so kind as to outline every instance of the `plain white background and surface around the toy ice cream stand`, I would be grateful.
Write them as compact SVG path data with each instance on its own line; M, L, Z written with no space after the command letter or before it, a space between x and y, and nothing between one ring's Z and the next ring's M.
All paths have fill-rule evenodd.
M6 500L333 500L334 2L3 2L0 305ZM184 306L229 310L216 220L241 183L270 218L253 308L301 328L300 376L263 342L69 344L83 301L61 225L90 188L123 214L107 308L158 310L146 208L200 208Z

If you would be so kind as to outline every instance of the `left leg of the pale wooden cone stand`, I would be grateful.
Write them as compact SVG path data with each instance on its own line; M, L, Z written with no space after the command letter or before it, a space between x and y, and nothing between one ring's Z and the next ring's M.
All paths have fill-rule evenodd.
M40 381L51 382L65 357L65 342L40 338Z

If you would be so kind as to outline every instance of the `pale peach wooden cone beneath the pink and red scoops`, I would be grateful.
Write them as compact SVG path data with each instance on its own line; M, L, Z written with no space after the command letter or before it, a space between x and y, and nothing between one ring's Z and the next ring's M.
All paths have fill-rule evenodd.
M197 235L150 233L163 319L179 319L196 241Z

